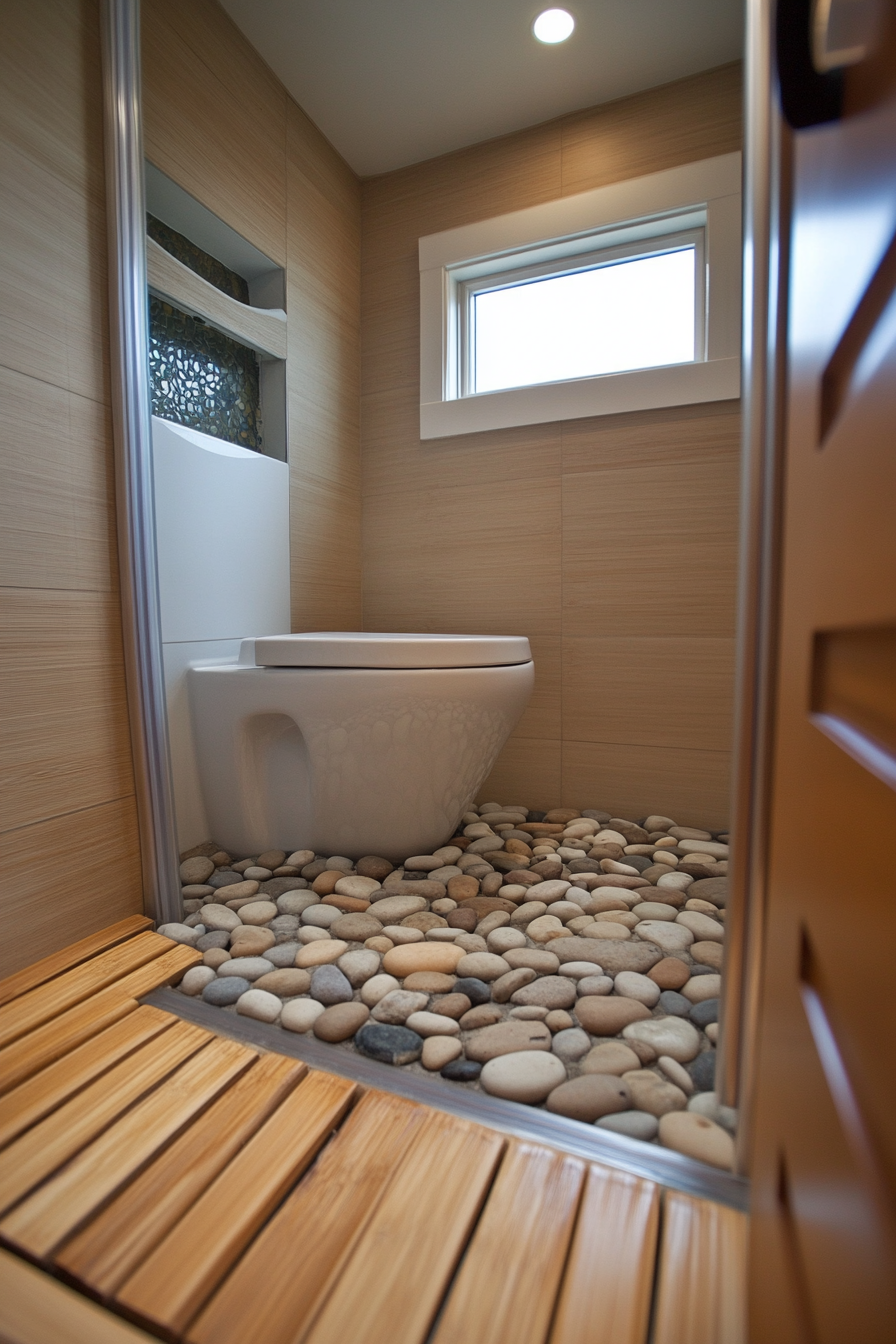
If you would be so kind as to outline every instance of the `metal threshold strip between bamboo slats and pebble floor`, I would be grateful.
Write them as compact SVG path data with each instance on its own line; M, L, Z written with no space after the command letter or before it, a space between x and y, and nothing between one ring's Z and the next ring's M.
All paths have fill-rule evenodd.
M576 1157L604 1163L607 1167L621 1168L670 1189L680 1189L700 1199L712 1199L740 1212L748 1212L750 1181L746 1177L707 1167L669 1148L642 1144L626 1138L625 1134L613 1134L533 1106L467 1091L462 1086L449 1087L441 1079L406 1074L388 1064L379 1064L361 1055L324 1044L313 1036L298 1036L281 1027L222 1012L220 1008L188 999L175 989L156 989L141 1001L185 1021L196 1023L216 1035L302 1059L314 1068L351 1078L363 1086L407 1097L410 1101L477 1121L480 1125L488 1125L519 1138L549 1144Z

